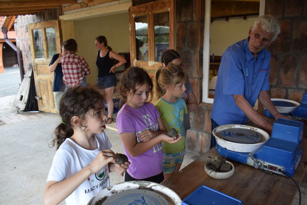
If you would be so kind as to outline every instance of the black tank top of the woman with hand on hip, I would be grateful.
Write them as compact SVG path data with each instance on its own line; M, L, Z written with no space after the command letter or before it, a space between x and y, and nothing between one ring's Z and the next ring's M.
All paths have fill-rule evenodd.
M107 52L105 57L100 57L100 50L97 53L96 65L98 67L98 77L103 77L107 75L115 75L115 73L113 72L109 73L110 69L114 65L114 59L111 59L109 57L110 51L111 50Z

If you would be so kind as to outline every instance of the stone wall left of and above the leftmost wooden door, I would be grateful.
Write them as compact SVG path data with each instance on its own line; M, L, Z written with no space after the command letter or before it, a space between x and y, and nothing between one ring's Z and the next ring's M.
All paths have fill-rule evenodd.
M60 9L48 9L46 12L39 12L36 15L17 16L14 23L16 46L21 50L25 73L29 66L33 65L29 40L31 34L29 34L28 24L59 19L60 12Z

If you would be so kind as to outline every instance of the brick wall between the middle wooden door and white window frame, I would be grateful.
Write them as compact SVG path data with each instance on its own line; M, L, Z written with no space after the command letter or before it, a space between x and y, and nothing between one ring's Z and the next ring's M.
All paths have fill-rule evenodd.
M194 94L202 99L204 1L176 1L176 50L183 60ZM209 150L212 104L200 104L190 113L191 129L187 131L186 146L203 154Z

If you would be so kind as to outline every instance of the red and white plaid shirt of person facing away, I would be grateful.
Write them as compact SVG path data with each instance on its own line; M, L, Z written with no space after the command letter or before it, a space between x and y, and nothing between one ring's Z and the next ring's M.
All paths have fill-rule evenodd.
M61 59L63 68L63 82L68 88L81 84L84 75L91 73L87 62L83 57L68 52Z

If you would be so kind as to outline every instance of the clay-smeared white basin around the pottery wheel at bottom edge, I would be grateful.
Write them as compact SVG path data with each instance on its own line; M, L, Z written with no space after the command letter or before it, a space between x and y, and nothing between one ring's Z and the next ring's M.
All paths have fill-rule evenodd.
M106 200L111 195L132 189L146 189L154 191L163 196L167 196L169 200L172 200L172 204L181 205L180 197L173 190L161 184L148 181L129 181L114 184L110 187L103 189L98 194L93 196L93 198L87 203L87 205L94 205L97 201L103 198L105 198L104 200ZM122 204L124 204L124 202Z

